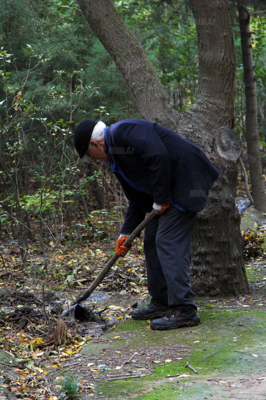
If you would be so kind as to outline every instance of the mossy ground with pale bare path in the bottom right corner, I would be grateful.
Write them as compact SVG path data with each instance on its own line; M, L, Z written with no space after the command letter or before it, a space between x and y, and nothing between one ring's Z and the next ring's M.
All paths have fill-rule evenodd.
M178 344L189 345L192 346L191 355L186 357L184 354L178 362L160 362L152 375L147 377L102 381L94 398L266 398L266 380L263 379L266 375L264 311L208 309L201 312L201 324L193 328L151 331L147 330L147 326L147 322L122 322L108 336L111 338L128 332L131 335L130 347L136 349L144 345L152 349L160 343L165 345L166 341L172 343L173 350ZM122 352L123 346L128 346L127 339L119 340L116 348ZM94 345L87 348L86 353L101 350L102 346ZM165 354L165 358L169 359L169 353ZM187 362L197 370L197 374L185 366Z

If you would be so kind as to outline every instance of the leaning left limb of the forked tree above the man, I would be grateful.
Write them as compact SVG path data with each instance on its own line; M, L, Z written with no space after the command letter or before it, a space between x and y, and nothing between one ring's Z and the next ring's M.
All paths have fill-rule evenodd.
M144 119L170 125L179 113L169 104L166 92L138 39L125 25L112 1L77 0L95 35L122 72ZM166 115L166 110L168 115Z

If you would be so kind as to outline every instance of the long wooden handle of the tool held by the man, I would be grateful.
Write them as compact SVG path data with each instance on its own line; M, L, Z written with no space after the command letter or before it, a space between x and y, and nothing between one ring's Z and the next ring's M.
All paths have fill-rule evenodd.
M140 232L148 225L148 223L156 216L156 212L153 209L144 219L143 221L133 230L133 232L128 236L128 238L124 241L123 246L129 247L132 241L137 237ZM112 257L107 262L106 266L101 270L98 276L94 279L91 285L83 291L78 297L76 297L72 302L71 305L75 305L80 303L81 301L86 300L89 295L95 290L95 288L101 283L103 278L107 275L115 261L119 258L119 255L115 252Z

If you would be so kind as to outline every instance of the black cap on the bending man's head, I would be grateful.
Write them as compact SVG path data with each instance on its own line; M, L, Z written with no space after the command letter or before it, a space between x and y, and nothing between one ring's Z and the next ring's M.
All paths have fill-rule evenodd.
M80 158L83 157L89 146L91 134L97 122L98 121L94 121L92 119L85 119L84 121L80 122L75 130L74 146Z

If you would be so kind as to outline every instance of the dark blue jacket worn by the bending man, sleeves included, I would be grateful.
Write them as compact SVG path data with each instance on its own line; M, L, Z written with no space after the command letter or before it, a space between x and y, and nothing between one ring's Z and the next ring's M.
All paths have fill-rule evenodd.
M219 172L195 144L155 122L123 119L107 127L105 151L130 201L123 233L131 231L157 204L174 203L201 211ZM129 180L127 181L124 176ZM132 184L130 184L132 183Z

